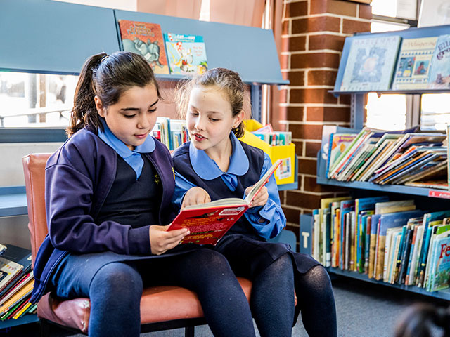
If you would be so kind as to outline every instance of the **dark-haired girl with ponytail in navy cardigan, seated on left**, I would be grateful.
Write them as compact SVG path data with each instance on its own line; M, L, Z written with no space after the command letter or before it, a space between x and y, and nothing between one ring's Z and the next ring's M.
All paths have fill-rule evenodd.
M139 336L144 286L198 294L214 336L255 336L248 301L220 253L179 242L172 158L150 136L160 93L141 55L86 60L69 139L46 164L49 235L34 264L31 302L49 291L89 297L89 336ZM223 305L226 303L226 305Z

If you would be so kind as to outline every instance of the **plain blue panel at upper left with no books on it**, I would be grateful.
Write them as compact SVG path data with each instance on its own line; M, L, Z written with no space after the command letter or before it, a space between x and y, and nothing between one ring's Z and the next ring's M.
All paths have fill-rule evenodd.
M51 0L0 0L0 70L77 74L119 50L114 11Z

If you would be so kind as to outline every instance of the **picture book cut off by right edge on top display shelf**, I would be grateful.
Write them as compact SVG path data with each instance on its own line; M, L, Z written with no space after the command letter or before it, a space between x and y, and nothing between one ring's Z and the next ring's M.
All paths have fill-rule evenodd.
M450 34L437 38L430 70L430 89L450 88Z

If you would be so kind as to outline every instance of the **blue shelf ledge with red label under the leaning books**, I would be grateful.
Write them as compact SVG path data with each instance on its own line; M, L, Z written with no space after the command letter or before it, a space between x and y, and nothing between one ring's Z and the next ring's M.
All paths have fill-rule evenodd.
M424 187L411 187L404 185L378 185L367 183L365 181L339 181L317 176L317 183L323 185L333 185L346 188L357 188L359 190L372 190L380 192L391 192L400 194L420 195L424 197L435 197L441 199L450 199L450 192L446 190L435 190Z

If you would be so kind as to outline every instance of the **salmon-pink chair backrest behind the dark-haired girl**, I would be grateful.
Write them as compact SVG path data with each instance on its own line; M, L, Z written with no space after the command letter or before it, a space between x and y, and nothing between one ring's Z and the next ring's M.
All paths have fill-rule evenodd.
M50 155L51 153L34 153L22 159L27 190L32 265L34 265L39 246L49 232L45 211L45 166Z

